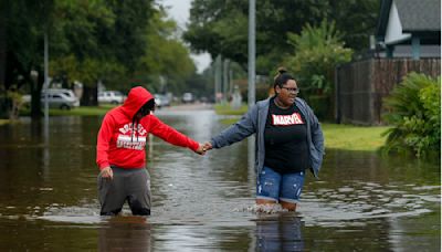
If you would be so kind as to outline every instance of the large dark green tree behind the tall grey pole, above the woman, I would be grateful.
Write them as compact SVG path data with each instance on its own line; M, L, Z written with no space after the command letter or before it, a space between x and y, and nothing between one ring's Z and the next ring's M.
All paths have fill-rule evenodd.
M356 51L368 48L378 6L378 0L256 1L256 72L267 74L283 62L288 32L299 33L306 23L335 21L336 29L345 32L343 40L347 46ZM197 52L207 51L213 59L221 54L246 70L248 11L246 0L194 0L183 39Z

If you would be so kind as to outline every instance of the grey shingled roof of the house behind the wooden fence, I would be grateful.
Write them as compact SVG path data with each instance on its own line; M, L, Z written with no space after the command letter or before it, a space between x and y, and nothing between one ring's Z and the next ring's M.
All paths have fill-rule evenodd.
M389 22L390 8L393 3L398 9L402 32L440 32L440 0L382 0L377 28L377 35L385 35Z

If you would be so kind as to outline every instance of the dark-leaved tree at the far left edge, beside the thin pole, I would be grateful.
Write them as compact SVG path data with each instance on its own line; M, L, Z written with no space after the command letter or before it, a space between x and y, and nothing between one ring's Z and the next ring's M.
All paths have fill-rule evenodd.
M0 4L3 23L0 25L0 69L3 94L12 86L29 85L32 94L32 116L39 117L40 93L43 85L43 34L49 32L54 10L53 0L2 1ZM36 81L31 71L38 72ZM0 98L1 99L1 98ZM7 99L0 103L8 103ZM10 103L12 104L12 103Z

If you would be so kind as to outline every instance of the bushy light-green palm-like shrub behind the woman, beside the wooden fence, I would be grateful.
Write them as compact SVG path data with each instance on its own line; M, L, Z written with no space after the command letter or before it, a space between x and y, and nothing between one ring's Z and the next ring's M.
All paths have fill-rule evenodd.
M319 27L305 25L301 34L288 33L288 42L294 46L295 55L288 56L285 64L291 70L301 87L302 96L314 103L314 97L323 98L322 106L312 107L320 117L333 117L333 94L335 67L351 60L351 49L344 48L343 34L335 23L325 20Z

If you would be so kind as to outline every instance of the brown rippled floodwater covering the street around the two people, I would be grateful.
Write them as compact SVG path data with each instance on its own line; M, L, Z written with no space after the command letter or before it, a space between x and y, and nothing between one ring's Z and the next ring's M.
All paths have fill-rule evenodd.
M227 127L213 111L157 116L199 141ZM52 117L45 140L0 126L0 251L440 251L440 165L327 149L296 213L256 213L248 141L200 157L154 137L152 216L98 216L101 117Z

